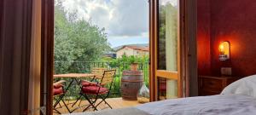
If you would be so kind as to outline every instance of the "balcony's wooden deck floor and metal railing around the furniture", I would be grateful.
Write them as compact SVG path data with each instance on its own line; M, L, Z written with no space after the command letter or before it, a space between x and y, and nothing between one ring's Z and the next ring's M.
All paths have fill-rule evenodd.
M149 69L148 67L149 67L148 62L139 63L139 67L138 67L138 70L143 72L143 79L146 85L148 85L148 69ZM121 91L120 91L121 78L122 78L123 71L130 70L130 64L128 62L117 63L117 62L90 62L90 61L76 61L76 62L55 61L55 74L90 73L93 68L107 68L107 69L116 70L116 74L113 79L113 88L107 99L108 104L111 105L113 109L139 105L137 101L125 101L125 100L122 100L121 98ZM65 80L67 81L67 83L71 82L70 78L55 78L55 82L59 80ZM71 111L75 109L74 112L82 112L83 109L86 107L86 105L88 105L88 101L82 98L81 102L79 101L74 106L72 106L73 103L76 101L76 99L79 97L79 92L80 92L80 87L74 84L70 87L70 89L67 90L66 95L63 98L68 108ZM60 105L57 106L57 108L58 108L58 111L61 113L68 113L67 108L64 106L62 102L60 103ZM102 103L100 106L97 107L97 109L103 110L103 109L109 109L109 108L107 105ZM86 110L86 112L92 112L92 109Z

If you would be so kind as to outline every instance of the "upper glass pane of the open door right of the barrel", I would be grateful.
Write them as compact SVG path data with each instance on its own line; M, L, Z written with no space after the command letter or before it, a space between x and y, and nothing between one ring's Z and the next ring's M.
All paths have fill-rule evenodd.
M159 1L158 70L177 72L177 0Z

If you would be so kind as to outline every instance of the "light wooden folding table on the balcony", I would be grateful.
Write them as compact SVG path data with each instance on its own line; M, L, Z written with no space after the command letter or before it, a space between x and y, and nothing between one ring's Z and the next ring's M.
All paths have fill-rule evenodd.
M72 85L73 82L76 82L77 85L79 85L79 87L80 87L81 78L95 79L96 75L91 74L91 73L66 73L66 74L55 74L54 78L71 78L71 82L68 83L67 88L65 89L67 91L70 88L70 86ZM64 96L65 95L66 95L66 93L64 94ZM69 113L73 112L73 111L70 111L70 109L68 107L67 107L67 111Z

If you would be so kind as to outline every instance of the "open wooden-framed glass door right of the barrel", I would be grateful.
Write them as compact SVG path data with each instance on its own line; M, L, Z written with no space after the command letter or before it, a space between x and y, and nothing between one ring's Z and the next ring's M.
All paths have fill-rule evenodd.
M156 0L154 35L155 101L182 96L179 0Z

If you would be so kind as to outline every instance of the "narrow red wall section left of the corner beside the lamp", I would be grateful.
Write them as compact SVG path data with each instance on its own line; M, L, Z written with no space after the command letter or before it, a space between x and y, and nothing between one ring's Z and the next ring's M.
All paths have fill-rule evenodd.
M197 1L197 59L198 73L208 75L211 73L210 31L211 14L210 0Z

